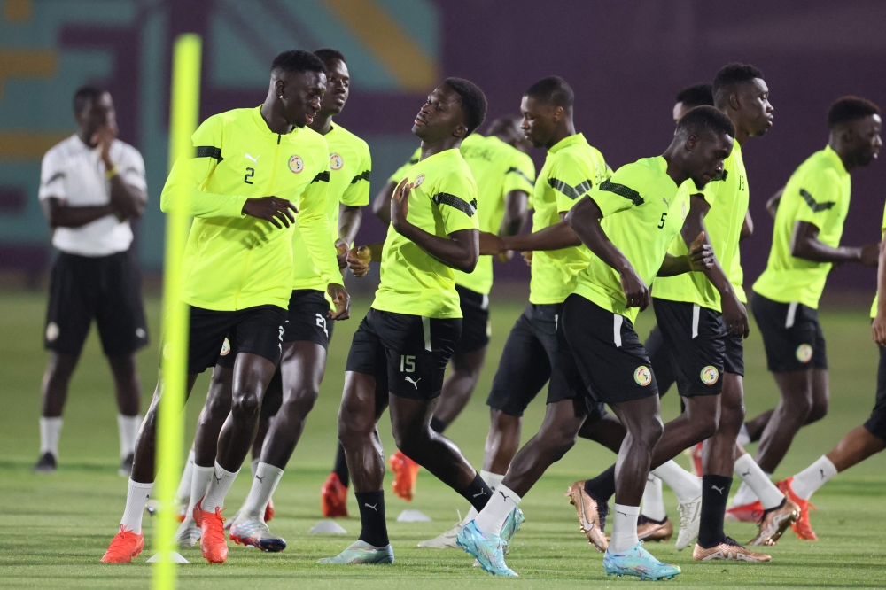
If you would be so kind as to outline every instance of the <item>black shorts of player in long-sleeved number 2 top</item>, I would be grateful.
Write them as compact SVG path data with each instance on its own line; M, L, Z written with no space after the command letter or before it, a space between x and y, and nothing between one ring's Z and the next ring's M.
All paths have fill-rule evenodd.
M285 320L285 309L269 305L237 311L191 307L188 373L202 373L226 357L233 366L237 353L258 354L279 365Z

